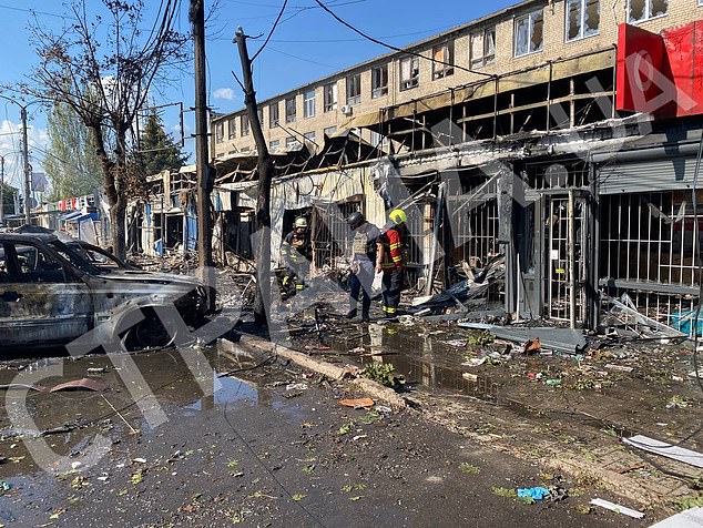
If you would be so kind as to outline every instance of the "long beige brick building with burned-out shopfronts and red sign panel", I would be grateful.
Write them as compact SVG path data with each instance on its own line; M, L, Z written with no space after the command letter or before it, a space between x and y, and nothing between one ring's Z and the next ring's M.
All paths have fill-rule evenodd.
M699 6L524 1L261 102L274 257L304 215L314 268L335 268L348 213L380 225L403 207L410 276L426 294L502 255L493 301L513 316L594 328L620 299L691 331ZM216 250L248 257L248 116L211 124Z

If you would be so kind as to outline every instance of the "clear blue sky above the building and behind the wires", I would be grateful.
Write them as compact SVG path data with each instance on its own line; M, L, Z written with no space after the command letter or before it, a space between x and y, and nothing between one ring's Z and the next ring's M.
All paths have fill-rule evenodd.
M478 17L503 9L517 0L471 1L444 0L438 3L419 0L325 0L342 18L367 33L395 45L405 45L435 33L468 22ZM89 7L100 0L88 0ZM147 7L156 7L157 0L145 0ZM205 0L205 9L215 11L208 20L207 63L210 105L217 112L230 112L243 105L241 89L232 77L240 70L236 47L232 43L237 26L247 34L266 33L283 1L278 0ZM340 26L329 14L316 7L314 0L289 0L289 6L266 50L254 65L254 81L258 97L264 99L295 88L305 82L335 72L387 52L386 49L364 40ZM187 0L183 0L180 29L187 31ZM337 4L337 6L335 6ZM34 11L32 14L30 11ZM0 83L26 81L35 64L28 24L33 16L42 26L58 29L62 26L64 6L60 0L0 0L0 49L4 50ZM258 42L261 42L261 39ZM249 50L258 49L257 41L249 41ZM155 93L156 102L183 101L193 105L193 77L174 73L173 82ZM0 155L8 155L7 171L11 181L19 176L13 151L19 141L19 110L0 101ZM30 106L32 130L30 146L35 170L40 170L45 149L45 116L37 106ZM177 129L177 113L163 114L170 131ZM192 126L186 116L186 133ZM6 134L6 135L3 135ZM186 140L186 150L192 150Z

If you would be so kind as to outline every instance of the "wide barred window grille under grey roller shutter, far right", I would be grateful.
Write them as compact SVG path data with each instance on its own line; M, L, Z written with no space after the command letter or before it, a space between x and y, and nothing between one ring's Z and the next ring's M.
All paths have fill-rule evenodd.
M601 212L601 286L612 296L626 293L643 315L692 333L686 316L697 303L703 217L696 220L691 192L603 196Z

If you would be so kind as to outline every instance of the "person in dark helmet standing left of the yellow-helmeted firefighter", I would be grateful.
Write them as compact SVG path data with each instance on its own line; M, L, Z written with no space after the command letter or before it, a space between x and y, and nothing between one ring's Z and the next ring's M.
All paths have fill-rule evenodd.
M361 296L361 321L369 322L369 308L371 307L371 285L374 284L374 266L380 231L370 222L367 222L359 212L352 213L347 217L347 224L354 232L352 246L352 278L349 295L349 312L347 317L357 316L357 303Z

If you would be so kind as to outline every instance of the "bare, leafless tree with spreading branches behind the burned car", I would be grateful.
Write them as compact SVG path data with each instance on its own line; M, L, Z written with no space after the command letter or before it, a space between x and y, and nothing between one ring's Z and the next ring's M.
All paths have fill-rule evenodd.
M90 14L88 3L100 6L102 14ZM113 252L120 257L125 256L126 204L139 172L131 162L137 112L152 84L185 59L187 39L174 30L180 3L161 0L149 21L143 0L72 0L62 32L38 23L31 28L40 61L33 75L38 84L26 90L68 104L93 134L110 205ZM105 133L112 136L112 152Z

